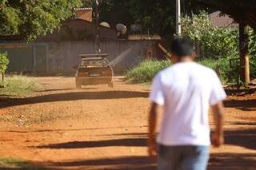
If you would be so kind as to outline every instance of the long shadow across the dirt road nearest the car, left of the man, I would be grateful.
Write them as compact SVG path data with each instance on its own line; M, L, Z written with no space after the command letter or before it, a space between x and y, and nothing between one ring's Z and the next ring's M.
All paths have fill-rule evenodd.
M54 101L102 100L118 98L148 97L148 92L136 91L102 91L102 92L70 92L54 93L45 96L15 98L0 103L0 109L14 105L28 105Z

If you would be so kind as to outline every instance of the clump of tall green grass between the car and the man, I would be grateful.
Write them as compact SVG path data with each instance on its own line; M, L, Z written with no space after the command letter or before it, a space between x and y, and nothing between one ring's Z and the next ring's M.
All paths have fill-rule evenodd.
M150 82L156 73L168 66L170 66L170 61L142 61L140 65L130 69L126 77L134 83Z

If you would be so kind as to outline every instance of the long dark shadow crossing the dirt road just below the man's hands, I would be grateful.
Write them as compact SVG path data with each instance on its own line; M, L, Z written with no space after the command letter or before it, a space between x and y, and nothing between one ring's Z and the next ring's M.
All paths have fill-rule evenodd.
M123 135L126 135L125 133ZM112 135L114 136L114 134ZM120 134L118 134L120 136ZM256 149L256 130L232 130L225 132L226 144L237 145L244 148ZM139 133L137 136L134 133L126 135L124 139L114 140L88 140L88 141L71 141L66 143L48 144L38 146L36 148L101 148L101 147L115 147L115 146L133 146L146 147L145 134Z

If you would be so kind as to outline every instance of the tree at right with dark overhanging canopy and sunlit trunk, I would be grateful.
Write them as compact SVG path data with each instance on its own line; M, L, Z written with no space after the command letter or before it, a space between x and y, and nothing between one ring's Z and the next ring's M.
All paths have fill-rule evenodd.
M256 30L256 1L254 0L195 0L202 6L230 15L239 24L240 77L245 85L250 83L249 29Z

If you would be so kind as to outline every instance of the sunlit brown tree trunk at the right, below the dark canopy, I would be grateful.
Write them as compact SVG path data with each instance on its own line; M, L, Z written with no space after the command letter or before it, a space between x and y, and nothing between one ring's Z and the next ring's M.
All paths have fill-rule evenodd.
M248 27L239 26L240 77L245 85L250 84L250 57Z

